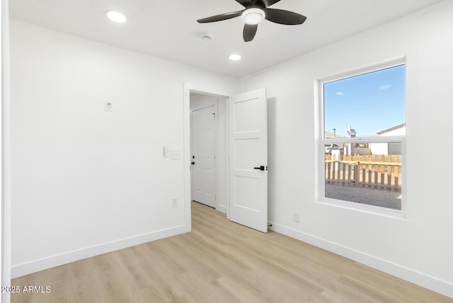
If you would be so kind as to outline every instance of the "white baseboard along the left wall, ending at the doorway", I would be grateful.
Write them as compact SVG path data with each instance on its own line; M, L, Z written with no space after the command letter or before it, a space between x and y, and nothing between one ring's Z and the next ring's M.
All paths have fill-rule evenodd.
M148 234L133 236L127 239L120 239L105 244L81 248L76 251L69 251L67 253L62 253L56 256L50 256L48 258L42 258L40 260L35 260L28 263L13 265L11 267L11 278L18 278L23 275L29 275L30 273L36 273L40 270L45 270L48 268L53 268L55 266L79 261L84 258L91 258L93 256L102 255L103 253L110 253L112 251L117 251L122 248L127 248L139 244L144 244L150 241L164 239L169 236L184 234L185 232L188 231L190 231L190 229L187 226L181 225L178 227L172 227L170 229L162 229L159 231L150 232Z

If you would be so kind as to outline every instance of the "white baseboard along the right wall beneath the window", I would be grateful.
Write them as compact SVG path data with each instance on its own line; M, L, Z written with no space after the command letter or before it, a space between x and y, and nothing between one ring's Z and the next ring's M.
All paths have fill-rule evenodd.
M376 258L367 253L356 251L352 248L348 248L346 246L321 239L317 236L312 236L311 234L306 234L302 231L276 224L275 222L270 222L270 224L272 224L272 227L270 227L269 229L280 234L285 234L285 236L290 236L307 244L323 248L326 251L331 251L332 253L336 253L337 255L349 258L369 267L376 268L377 270L381 270L384 273L389 273L390 275L394 275L395 277L412 282L416 285L420 285L421 287L425 287L428 290L432 290L434 292L440 293L441 295L453 298L453 284L450 282L440 280L430 275L425 275L416 270L412 270L411 268L405 268L401 265Z

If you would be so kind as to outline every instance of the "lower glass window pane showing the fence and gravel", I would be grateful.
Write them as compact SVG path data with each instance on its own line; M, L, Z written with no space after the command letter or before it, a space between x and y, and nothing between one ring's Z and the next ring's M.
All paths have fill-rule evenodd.
M326 148L325 197L401 210L401 142L338 145Z

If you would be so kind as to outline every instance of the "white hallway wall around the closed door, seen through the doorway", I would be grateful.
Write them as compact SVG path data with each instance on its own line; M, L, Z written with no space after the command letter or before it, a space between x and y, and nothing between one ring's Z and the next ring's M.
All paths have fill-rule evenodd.
M190 95L190 110L199 110L214 105L217 109L215 130L215 195L216 210L227 212L228 208L228 99L202 93Z

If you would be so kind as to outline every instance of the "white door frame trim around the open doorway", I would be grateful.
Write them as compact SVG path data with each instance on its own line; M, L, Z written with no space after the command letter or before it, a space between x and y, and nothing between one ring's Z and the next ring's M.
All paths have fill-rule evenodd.
M190 92L201 93L203 95L217 96L219 98L229 98L230 92L219 91L207 84L195 85L188 82L183 83L183 166L184 166L184 205L185 205L185 225L192 229L192 209L190 205ZM218 108L218 106L217 106ZM228 173L228 172L227 172ZM229 176L226 176L229 180ZM229 188L229 183L226 184ZM229 190L226 191L226 217L229 219Z

